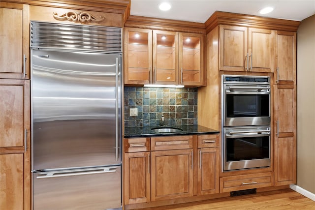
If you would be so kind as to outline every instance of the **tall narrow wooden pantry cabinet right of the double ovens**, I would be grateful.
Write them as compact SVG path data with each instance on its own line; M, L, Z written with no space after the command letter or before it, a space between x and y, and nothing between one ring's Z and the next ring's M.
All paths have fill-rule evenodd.
M277 31L274 75L275 185L296 183L296 33Z

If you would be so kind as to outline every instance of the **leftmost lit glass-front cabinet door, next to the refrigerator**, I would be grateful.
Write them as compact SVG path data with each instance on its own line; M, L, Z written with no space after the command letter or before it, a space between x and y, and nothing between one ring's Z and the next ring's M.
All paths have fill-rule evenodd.
M125 29L125 84L152 82L152 30Z

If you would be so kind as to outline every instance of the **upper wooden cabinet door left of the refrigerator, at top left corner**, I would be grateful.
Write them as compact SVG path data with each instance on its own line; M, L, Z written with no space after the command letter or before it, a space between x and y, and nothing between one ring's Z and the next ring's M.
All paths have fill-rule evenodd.
M0 2L0 78L30 78L29 22L29 5Z

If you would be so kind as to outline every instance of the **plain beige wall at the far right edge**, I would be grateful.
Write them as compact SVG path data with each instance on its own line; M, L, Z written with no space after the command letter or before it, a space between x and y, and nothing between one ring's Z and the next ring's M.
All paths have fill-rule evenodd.
M297 185L315 194L315 15L297 31Z

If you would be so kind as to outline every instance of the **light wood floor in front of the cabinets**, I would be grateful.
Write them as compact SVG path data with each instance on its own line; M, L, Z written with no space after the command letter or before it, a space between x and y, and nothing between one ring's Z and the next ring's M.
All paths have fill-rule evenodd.
M315 202L291 189L282 189L145 210L315 210Z

